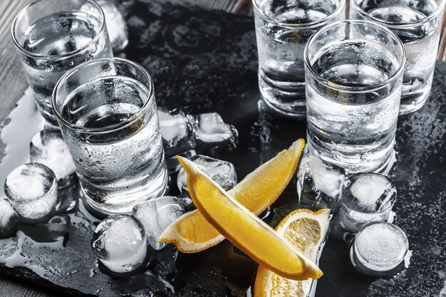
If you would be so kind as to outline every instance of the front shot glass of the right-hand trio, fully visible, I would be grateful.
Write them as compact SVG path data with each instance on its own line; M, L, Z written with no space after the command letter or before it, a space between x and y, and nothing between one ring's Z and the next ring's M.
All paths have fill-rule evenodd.
M346 20L305 51L308 147L347 173L381 170L395 145L403 43L379 24Z

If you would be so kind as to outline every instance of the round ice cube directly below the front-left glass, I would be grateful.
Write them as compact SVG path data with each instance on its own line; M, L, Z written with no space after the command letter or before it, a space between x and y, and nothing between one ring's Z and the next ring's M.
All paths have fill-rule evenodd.
M91 247L110 271L135 271L146 261L144 226L131 214L113 214L98 224L91 236Z

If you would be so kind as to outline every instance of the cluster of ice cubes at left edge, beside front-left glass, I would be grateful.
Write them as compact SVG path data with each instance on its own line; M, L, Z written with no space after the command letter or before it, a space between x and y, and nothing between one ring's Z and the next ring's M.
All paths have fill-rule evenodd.
M75 167L61 131L41 130L29 147L31 162L16 167L4 182L0 236L14 235L17 224L22 231L27 224L45 224L54 215L72 212L77 206Z

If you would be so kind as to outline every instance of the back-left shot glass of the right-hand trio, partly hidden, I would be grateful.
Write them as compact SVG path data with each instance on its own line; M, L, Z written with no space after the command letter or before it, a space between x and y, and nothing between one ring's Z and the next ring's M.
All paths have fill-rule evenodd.
M313 33L346 18L346 0L253 0L259 88L279 115L305 119L304 48Z

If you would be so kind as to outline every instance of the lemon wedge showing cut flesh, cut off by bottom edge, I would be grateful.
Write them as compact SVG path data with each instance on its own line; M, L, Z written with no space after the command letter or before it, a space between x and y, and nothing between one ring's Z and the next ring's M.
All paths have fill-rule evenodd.
M280 222L276 231L295 249L316 261L318 250L326 238L329 215L329 209L321 209L318 212L297 209ZM295 281L284 278L264 266L259 266L254 284L254 296L306 297L311 290L312 281L312 279Z

